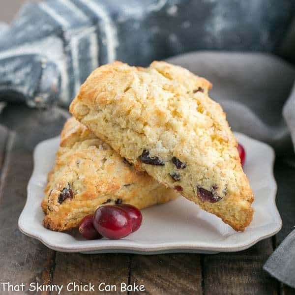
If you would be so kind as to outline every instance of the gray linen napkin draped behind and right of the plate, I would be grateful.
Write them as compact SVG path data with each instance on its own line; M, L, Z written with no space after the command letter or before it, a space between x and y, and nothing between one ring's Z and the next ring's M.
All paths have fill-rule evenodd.
M295 68L272 55L195 52L168 61L202 73L213 84L233 130L272 145L291 162L295 145ZM295 191L295 181L293 184ZM295 230L267 260L264 269L295 288Z

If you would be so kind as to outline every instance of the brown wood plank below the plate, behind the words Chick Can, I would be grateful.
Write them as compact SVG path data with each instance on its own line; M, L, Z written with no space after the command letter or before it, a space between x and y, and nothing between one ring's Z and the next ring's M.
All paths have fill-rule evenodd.
M70 282L95 285L95 292L99 294L127 294L120 292L120 283L128 283L129 255L128 254L69 254L57 253L56 268L53 284L64 285L66 288ZM98 292L100 283L116 285L116 291ZM70 288L73 288L70 285ZM101 290L107 288L101 285ZM95 294L96 294L95 293ZM65 293L67 294L67 293ZM79 295L78 290L70 292L71 295Z

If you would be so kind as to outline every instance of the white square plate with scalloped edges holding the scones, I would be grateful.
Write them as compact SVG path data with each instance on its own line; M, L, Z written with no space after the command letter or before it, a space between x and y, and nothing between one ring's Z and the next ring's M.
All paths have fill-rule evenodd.
M236 133L246 150L244 171L252 186L254 218L243 232L235 232L213 214L201 210L183 197L142 210L141 228L119 240L84 240L75 231L58 233L42 225L40 203L47 174L55 162L59 137L41 142L34 151L34 170L28 184L28 197L19 218L19 229L47 247L62 252L139 253L172 252L216 253L240 251L259 240L275 235L282 221L275 205L276 182L273 177L274 152L268 145Z

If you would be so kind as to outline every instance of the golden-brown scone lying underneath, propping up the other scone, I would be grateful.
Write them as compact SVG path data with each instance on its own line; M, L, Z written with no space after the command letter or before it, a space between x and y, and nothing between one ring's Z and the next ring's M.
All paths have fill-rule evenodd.
M61 133L56 164L49 174L43 224L54 231L77 227L103 204L138 208L173 200L177 193L136 171L110 146L70 118Z

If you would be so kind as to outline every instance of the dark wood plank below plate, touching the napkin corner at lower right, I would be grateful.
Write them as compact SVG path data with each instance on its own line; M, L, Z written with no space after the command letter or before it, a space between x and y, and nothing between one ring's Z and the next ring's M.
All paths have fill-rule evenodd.
M262 269L271 253L268 238L242 252L205 255L204 294L277 294L277 281Z

